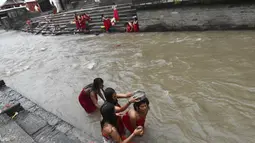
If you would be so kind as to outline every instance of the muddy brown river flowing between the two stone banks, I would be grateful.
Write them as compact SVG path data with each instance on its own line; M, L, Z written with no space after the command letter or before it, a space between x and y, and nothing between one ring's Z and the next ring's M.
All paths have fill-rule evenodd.
M136 139L141 143L255 142L254 31L99 36L0 31L0 75L96 138L100 115L87 115L78 95L101 77L118 92L147 93L146 133Z

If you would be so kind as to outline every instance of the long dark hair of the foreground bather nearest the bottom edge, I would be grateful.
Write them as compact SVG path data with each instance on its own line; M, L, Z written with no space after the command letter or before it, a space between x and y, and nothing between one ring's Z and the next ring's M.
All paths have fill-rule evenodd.
M100 108L100 113L103 117L103 120L100 122L101 128L104 127L105 123L109 123L118 129L117 116L115 114L115 106L113 104L105 102Z

